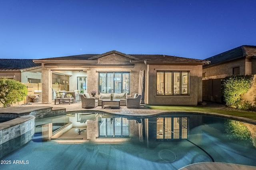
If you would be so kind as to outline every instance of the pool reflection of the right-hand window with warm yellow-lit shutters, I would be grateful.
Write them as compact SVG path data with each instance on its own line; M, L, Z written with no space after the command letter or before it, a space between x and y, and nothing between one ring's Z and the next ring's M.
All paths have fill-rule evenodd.
M156 119L156 139L188 139L189 117L158 117Z

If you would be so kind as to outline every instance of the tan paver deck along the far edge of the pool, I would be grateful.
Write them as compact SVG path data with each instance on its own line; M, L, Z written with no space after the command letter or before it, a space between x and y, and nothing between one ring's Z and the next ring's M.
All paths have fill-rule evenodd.
M161 114L164 112L172 112L171 110L157 110L157 109L148 109L147 107L140 106L138 109L128 109L126 106L120 106L120 109L111 109L111 108L102 108L101 106L97 106L95 108L91 109L85 109L81 107L82 104L81 102L76 102L74 104L68 104L68 103L60 103L60 104L54 104L54 101L51 104L42 104L41 102L32 102L29 104L25 105L18 105L15 107L8 107L8 108L0 108L0 114L1 113L16 113L16 114L22 114L22 113L30 113L31 111L34 110L39 110L39 109L44 109L44 108L49 108L51 107L52 110L56 109L66 109L66 112L69 111L104 111L107 113L111 114L116 114L116 115L127 115L127 116L153 116L157 114ZM21 109L22 107L22 109ZM212 109L222 109L225 106L217 103L208 103L206 106L207 108L212 108ZM178 112L178 111L174 111ZM183 111L184 112L184 111ZM222 115L219 113L202 113L204 115L213 115L213 116L218 116L218 117L226 117L226 118L232 118L232 119L237 119L241 120L247 123L252 123L256 125L256 120L244 118L244 117L236 117L236 116L230 116L230 115Z

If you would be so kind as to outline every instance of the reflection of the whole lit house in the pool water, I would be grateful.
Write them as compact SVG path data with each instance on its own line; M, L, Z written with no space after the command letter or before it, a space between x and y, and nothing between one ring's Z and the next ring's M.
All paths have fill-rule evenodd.
M48 124L45 124L46 120L42 123L38 119L36 127L48 126L49 129L55 129L47 135L42 130L42 135L49 136L45 140L61 139L62 143L64 139L69 142L80 139L80 142L99 143L175 141L189 139L190 119L187 115L180 117L168 114L158 117L124 117L106 113L74 113L66 117L51 118L47 120ZM56 123L63 121L65 123L62 127L57 130L53 128Z

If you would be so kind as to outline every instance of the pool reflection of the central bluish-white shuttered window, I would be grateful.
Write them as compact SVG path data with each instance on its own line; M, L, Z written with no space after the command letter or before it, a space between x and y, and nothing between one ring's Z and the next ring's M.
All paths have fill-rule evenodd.
M100 118L99 137L129 137L129 120L123 117Z

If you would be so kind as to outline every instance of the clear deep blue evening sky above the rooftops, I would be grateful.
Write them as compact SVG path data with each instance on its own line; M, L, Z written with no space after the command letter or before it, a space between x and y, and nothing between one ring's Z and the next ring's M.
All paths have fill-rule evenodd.
M256 45L255 0L0 0L0 58L116 50L206 59Z

